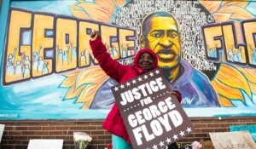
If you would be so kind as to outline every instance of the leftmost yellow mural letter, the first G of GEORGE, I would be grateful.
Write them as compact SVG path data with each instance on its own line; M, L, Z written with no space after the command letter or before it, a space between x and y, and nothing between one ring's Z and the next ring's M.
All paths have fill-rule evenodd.
M5 56L5 83L16 82L31 77L31 48L20 45L20 37L30 30L32 14L11 11L9 20L8 43ZM29 41L28 41L29 43Z

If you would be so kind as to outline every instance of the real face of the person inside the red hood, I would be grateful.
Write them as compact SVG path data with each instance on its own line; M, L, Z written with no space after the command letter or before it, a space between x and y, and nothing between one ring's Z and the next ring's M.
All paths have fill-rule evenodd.
M154 66L154 58L151 54L144 53L139 59L139 66L144 70L150 70Z

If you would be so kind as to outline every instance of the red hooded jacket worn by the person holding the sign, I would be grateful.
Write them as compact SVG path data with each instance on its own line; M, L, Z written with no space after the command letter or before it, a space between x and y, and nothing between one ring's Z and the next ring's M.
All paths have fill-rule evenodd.
M99 37L95 41L90 41L90 48L94 54L96 60L99 61L102 70L108 74L109 77L115 79L118 83L124 83L131 78L137 77L145 72L138 63L140 56L143 53L149 53L154 57L154 66L155 69L158 66L157 55L154 54L151 49L141 49L137 54L133 62L133 66L124 66L119 64L118 61L113 60L108 54L106 47L102 43L102 38ZM108 113L108 117L103 123L103 128L107 129L113 135L118 135L131 144L130 137L125 129L125 123L119 112L119 108L116 103L113 104L113 108Z

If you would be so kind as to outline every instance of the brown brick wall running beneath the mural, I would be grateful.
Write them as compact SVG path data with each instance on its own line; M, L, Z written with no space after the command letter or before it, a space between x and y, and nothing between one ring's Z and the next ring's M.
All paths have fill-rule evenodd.
M230 125L256 124L256 117L193 117L195 132L178 143L209 140L209 132L230 131ZM2 149L26 148L30 139L63 139L65 149L73 149L73 132L82 131L93 138L90 149L103 149L111 142L111 135L102 129L103 120L9 120L5 124Z

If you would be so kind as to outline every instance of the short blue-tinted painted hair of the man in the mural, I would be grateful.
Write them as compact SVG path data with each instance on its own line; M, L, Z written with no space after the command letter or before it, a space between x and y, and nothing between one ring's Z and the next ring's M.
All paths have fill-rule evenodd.
M151 24L151 20L154 17L170 17L173 20L175 20L175 24L177 26L177 31L179 32L179 26L177 24L177 20L174 17L173 14L167 12L167 11L155 11L151 14L148 14L144 19L143 19L143 24L142 24L142 28L141 28L141 32L143 34L143 37L147 37L148 32L150 31L150 24ZM165 22L163 22L165 23Z

